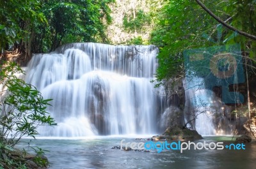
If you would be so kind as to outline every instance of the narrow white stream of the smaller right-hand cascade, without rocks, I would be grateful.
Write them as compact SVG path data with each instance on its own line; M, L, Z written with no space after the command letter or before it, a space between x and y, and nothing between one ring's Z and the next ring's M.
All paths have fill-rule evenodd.
M184 80L184 89L186 95L185 112L186 121L191 121L189 127L193 127L200 135L216 135L216 130L212 124L212 115L214 115L214 94L205 89L204 79L193 77Z

